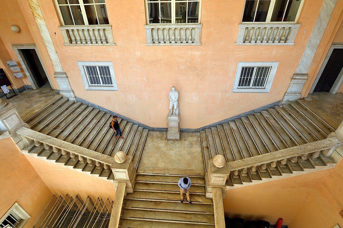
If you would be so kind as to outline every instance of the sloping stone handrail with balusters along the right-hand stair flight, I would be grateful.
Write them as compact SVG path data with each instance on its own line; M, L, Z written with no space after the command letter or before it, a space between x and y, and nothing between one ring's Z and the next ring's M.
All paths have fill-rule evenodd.
M298 157L303 161L307 160L308 156L312 159L318 159L322 151L333 151L340 145L343 145L343 142L336 137L331 137L292 148L229 162L226 163L226 168L228 172L234 172L234 176L238 175L239 170L242 170L243 173L247 173L247 168L255 173L258 167L260 170L265 170L268 164L271 168L275 168L277 162L280 162L280 165L286 165L288 159L291 163L296 163ZM331 153L327 153L325 155L330 156L330 154Z

